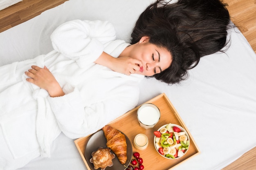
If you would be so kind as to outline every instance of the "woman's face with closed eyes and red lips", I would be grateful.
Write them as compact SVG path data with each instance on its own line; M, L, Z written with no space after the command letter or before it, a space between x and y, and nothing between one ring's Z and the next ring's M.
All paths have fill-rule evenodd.
M151 44L148 37L142 37L140 42L134 45L130 57L142 62L140 70L135 73L152 76L161 73L171 65L171 53L166 48Z

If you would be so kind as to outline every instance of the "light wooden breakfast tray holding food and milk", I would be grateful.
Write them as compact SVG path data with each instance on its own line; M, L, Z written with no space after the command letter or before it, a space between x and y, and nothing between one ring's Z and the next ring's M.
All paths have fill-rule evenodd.
M143 165L146 170L172 170L180 163L183 163L184 161L200 153L198 146L195 144L195 141L191 136L189 130L186 128L186 125L182 121L180 115L177 113L177 111L175 110L175 108L173 107L173 105L171 104L171 102L164 93L149 100L146 103L155 104L159 108L161 113L160 120L158 121L154 128L146 130L139 126L139 122L137 120L137 109L139 108L139 106L110 122L110 125L113 128L116 128L121 132L124 132L124 134L126 134L126 136L130 139L131 143L133 142L133 139L137 134L144 133L145 135L147 135L149 144L146 150L137 150L136 148L134 148L132 144L133 152L140 153L140 157L143 159ZM180 157L179 159L172 160L162 157L161 155L158 154L154 146L153 132L155 130L158 130L158 128L160 128L161 126L168 123L182 126L189 134L189 150L183 157ZM85 145L87 144L89 138L90 135L88 135L87 137L81 137L79 139L76 139L74 142L76 144L77 149L79 150L79 153L86 167L88 168L88 170L91 170L84 156Z

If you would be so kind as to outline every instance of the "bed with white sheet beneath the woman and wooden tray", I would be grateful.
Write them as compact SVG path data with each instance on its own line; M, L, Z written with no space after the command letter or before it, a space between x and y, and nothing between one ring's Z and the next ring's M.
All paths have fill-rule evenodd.
M153 0L69 0L0 33L0 66L52 51L49 35L74 19L108 20L117 38L129 40L139 14ZM226 53L202 57L181 84L150 78L140 84L138 106L165 93L191 132L200 154L175 170L220 170L256 146L256 54L238 29L229 31ZM50 158L20 170L87 170L73 139L61 134Z

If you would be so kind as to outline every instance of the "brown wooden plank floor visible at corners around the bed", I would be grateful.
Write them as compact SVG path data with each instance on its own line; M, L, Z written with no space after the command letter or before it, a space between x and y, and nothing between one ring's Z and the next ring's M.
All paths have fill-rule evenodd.
M67 0L23 0L0 11L0 32L25 22ZM256 52L256 0L224 0L232 21ZM235 148L234 148L235 149ZM256 170L256 147L222 170Z

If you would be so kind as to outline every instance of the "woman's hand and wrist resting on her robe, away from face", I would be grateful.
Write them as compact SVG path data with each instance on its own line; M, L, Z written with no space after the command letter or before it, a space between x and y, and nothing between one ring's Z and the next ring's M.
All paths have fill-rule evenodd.
M44 66L44 68L31 66L31 69L25 71L25 74L30 77L26 79L28 82L45 89L51 97L65 95L60 84L58 84L57 80L46 66Z

